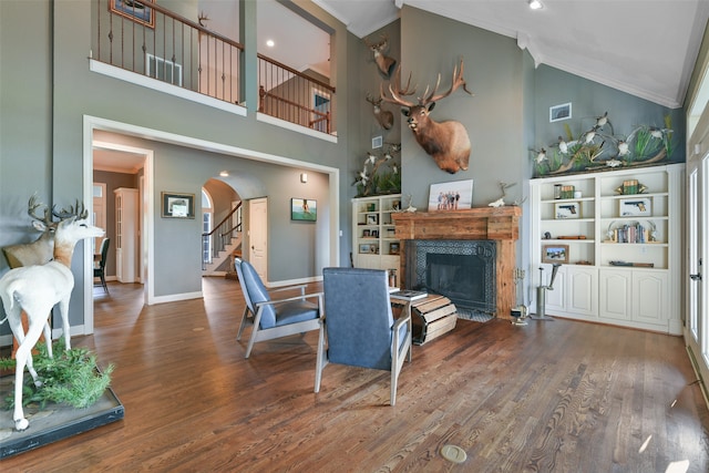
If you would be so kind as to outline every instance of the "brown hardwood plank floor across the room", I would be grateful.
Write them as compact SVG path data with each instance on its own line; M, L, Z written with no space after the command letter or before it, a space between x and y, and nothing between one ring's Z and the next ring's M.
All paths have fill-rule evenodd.
M204 300L152 307L140 286L110 290L95 335L73 341L116 366L125 419L6 459L3 472L709 470L707 405L679 337L459 320L413 348L392 408L387 372L330 364L316 394L315 332L245 360L237 281L208 278ZM440 455L448 443L463 464Z

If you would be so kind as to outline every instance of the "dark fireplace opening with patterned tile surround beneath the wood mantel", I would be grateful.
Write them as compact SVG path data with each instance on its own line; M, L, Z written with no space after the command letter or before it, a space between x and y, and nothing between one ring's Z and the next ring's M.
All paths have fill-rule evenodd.
M410 240L407 286L448 297L463 318L494 316L495 248L492 240Z

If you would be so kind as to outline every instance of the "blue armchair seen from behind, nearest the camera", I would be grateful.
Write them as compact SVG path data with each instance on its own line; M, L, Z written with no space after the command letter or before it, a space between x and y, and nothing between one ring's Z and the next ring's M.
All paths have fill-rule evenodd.
M322 284L326 318L318 341L315 392L328 363L387 370L394 405L407 356L411 362L411 307L394 320L384 270L325 268Z

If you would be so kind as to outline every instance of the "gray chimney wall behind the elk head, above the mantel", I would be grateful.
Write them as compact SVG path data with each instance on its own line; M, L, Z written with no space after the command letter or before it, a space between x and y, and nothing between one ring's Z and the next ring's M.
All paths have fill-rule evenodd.
M521 195L528 171L521 161L526 145L523 135L525 62L516 42L404 7L401 50L403 71L405 76L412 71L412 83L419 84L419 94L427 84L435 85L438 73L441 73L439 89L446 91L460 58L465 62L467 89L475 94L470 96L459 89L439 101L431 113L435 121L456 120L467 130L472 143L467 171L453 175L441 171L414 141L413 134L402 130L403 193L413 196L413 205L428 207L431 184L461 179L474 181L473 206L485 206L500 198L500 181L516 184L510 189L510 199Z

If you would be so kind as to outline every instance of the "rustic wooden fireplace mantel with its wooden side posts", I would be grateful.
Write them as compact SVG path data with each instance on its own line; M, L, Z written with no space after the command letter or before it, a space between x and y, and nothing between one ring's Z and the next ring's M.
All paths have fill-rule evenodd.
M401 287L407 287L405 240L494 240L497 249L497 317L510 319L510 311L516 306L514 294L515 241L520 238L521 216L522 208L516 206L392 214L395 226L394 235L402 241L399 270Z

